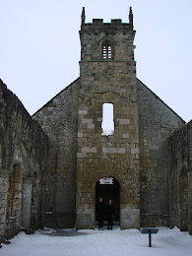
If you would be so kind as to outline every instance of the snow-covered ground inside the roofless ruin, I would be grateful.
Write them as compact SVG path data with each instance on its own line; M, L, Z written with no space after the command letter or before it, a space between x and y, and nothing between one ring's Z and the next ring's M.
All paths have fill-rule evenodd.
M149 235L137 229L75 231L72 229L38 230L34 234L19 233L11 244L3 244L2 256L188 256L192 255L192 236L177 227L159 227L158 234ZM52 234L50 234L52 233ZM65 236L63 236L65 234Z

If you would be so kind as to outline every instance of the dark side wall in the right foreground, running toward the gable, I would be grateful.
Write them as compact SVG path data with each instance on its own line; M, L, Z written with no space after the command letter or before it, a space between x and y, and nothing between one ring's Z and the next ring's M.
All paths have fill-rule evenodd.
M169 226L192 233L192 121L167 140Z

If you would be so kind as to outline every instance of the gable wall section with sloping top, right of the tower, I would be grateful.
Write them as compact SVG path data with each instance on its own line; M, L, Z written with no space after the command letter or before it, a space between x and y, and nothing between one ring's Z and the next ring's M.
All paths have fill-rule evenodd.
M141 225L168 224L168 172L164 142L184 121L139 80Z

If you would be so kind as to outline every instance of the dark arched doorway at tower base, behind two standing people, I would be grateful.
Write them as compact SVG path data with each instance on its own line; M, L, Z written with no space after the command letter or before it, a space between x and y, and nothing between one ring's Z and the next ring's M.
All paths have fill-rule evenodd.
M112 199L115 206L114 224L119 225L120 221L120 185L117 179L113 177L102 177L96 182L96 204L99 198L102 198L104 204ZM106 221L106 216L104 217ZM96 219L97 222L97 219Z

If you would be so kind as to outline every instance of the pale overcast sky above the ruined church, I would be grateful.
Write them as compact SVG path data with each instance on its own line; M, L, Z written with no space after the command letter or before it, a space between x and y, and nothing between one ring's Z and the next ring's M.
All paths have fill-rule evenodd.
M192 118L192 0L0 0L0 78L30 114L79 77L86 22L134 14L137 77Z

